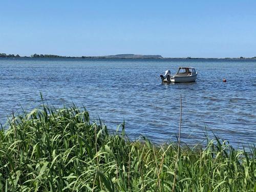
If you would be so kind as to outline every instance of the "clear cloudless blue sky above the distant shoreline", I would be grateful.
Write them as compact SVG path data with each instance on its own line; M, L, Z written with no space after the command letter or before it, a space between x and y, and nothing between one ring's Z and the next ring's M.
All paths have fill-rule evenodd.
M254 57L256 0L0 0L0 53Z

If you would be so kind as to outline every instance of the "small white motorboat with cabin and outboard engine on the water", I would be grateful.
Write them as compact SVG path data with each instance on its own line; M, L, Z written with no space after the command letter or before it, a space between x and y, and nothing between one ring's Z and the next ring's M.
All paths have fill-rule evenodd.
M170 74L170 70L165 71L165 75L160 75L162 82L194 82L197 79L195 68L179 67L175 75Z

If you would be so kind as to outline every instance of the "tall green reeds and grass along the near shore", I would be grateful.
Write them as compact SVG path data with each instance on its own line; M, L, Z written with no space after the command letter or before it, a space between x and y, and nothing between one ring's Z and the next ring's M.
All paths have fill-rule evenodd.
M177 144L110 134L85 109L43 106L0 131L0 191L172 191ZM256 147L180 148L175 191L256 191Z

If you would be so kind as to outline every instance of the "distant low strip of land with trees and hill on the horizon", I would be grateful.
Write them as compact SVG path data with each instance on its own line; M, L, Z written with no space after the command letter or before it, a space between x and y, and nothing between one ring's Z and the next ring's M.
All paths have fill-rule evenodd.
M256 59L254 57L225 57L225 58L205 58L205 57L162 57L161 55L135 55L135 54L118 54L106 56L60 56L52 54L32 54L31 56L20 56L18 54L0 53L0 58L95 58L95 59Z

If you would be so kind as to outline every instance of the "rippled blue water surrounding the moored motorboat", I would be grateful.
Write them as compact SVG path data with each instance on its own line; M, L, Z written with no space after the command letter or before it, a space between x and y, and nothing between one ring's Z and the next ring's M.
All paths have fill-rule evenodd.
M195 67L197 82L161 84L160 73ZM182 141L208 133L235 145L256 141L256 60L217 59L0 59L0 122L20 105L86 106L115 130L126 122L131 138L176 140L182 94ZM227 82L222 82L226 78ZM210 134L211 135L211 134Z

